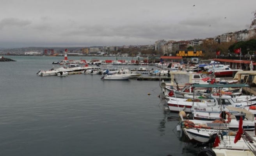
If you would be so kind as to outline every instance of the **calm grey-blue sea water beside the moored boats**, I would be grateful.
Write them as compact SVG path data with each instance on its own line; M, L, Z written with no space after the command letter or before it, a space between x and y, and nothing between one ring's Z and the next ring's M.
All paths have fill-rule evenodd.
M17 62L0 62L1 156L196 156L158 81L41 77L62 57L6 57Z

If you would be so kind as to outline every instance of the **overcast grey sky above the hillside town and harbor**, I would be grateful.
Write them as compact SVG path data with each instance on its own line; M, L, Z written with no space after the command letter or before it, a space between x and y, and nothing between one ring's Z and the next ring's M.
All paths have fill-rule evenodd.
M248 29L255 6L256 0L1 0L0 48L205 39Z

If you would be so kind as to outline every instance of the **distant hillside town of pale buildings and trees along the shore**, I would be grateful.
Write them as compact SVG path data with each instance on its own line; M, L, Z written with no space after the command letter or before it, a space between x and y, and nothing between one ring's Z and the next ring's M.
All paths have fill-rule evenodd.
M231 45L249 41L250 39L256 39L256 29L227 32L212 38L192 39L189 41L166 41L165 39L160 39L155 41L155 44L149 45L69 47L68 56L179 56L177 51L180 50L203 50L207 54L202 56L205 59L214 58L217 51L220 51L218 56L230 57L238 56L230 50ZM1 49L0 53L2 55L64 56L65 49L59 47L28 47ZM245 57L254 57L255 51L255 47L246 47L242 54L247 54Z

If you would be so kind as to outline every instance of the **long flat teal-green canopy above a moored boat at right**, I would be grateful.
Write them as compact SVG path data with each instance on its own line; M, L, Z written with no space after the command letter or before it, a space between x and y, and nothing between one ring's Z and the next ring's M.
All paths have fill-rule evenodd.
M247 84L194 84L195 88L228 88L228 87L250 87Z

